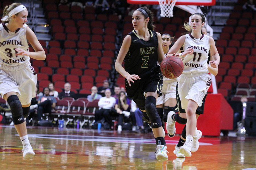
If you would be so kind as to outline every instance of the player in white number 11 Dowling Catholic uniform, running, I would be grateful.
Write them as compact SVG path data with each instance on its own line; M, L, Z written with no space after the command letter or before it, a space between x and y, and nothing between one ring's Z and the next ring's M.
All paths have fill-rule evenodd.
M176 56L179 56L184 64L183 73L178 77L178 94L187 117L187 139L181 146L180 152L187 157L191 156L193 143L198 143L201 137L200 131L196 128L196 109L201 106L211 84L211 77L208 75L207 69L209 51L213 58L219 59L212 37L202 34L204 24L205 16L203 14L193 14L190 25L184 24L187 30L191 30L191 33L181 36L168 52L168 55L173 55L181 48L184 50ZM219 60L217 62L219 63Z

